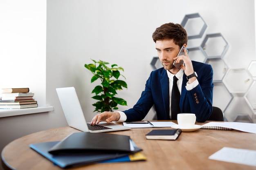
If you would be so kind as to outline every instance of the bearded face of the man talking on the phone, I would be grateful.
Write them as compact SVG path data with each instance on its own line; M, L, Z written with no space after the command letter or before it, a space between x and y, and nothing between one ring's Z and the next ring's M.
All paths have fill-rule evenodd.
M180 46L176 45L173 40L170 39L157 40L155 42L155 49L157 49L159 60L164 66L164 69L171 70L175 68L173 66L173 58L178 55Z

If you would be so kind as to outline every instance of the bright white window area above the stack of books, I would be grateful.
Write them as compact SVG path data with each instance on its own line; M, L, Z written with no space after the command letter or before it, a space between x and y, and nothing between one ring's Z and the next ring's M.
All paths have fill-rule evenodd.
M0 88L29 87L45 106L45 0L1 0L0 24Z

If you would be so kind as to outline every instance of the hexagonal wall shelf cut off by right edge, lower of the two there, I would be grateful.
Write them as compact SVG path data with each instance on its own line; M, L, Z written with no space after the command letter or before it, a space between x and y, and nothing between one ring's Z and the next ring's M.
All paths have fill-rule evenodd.
M256 81L252 83L252 86L246 92L245 101L248 103L254 114L256 114Z

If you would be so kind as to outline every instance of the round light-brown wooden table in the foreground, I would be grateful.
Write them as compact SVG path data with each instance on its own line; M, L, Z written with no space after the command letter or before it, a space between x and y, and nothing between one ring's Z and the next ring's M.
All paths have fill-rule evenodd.
M96 163L72 170L256 170L256 166L208 159L223 147L256 150L256 134L237 130L200 129L195 132L182 132L176 141L147 140L145 134L153 129L170 128L137 128L111 132L129 135L135 144L143 149L147 161ZM30 149L29 144L58 141L72 132L79 132L79 130L70 127L55 128L12 141L2 150L4 168L7 170L61 170Z

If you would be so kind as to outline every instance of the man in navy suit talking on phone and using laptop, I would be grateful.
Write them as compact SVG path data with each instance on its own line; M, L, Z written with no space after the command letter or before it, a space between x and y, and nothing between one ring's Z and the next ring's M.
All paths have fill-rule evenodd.
M212 112L213 69L209 64L191 61L185 49L185 55L177 56L182 46L186 47L186 30L180 24L163 24L153 33L153 40L164 67L151 72L145 90L133 108L123 112L100 113L93 117L92 125L100 121L139 121L144 119L153 105L158 120L177 119L173 108L178 109L180 113L195 113L198 122L209 118ZM183 60L184 64L180 69L173 66L175 60L177 63ZM179 106L172 104L172 100L174 102L179 98L171 97L175 86L174 76L178 79Z

